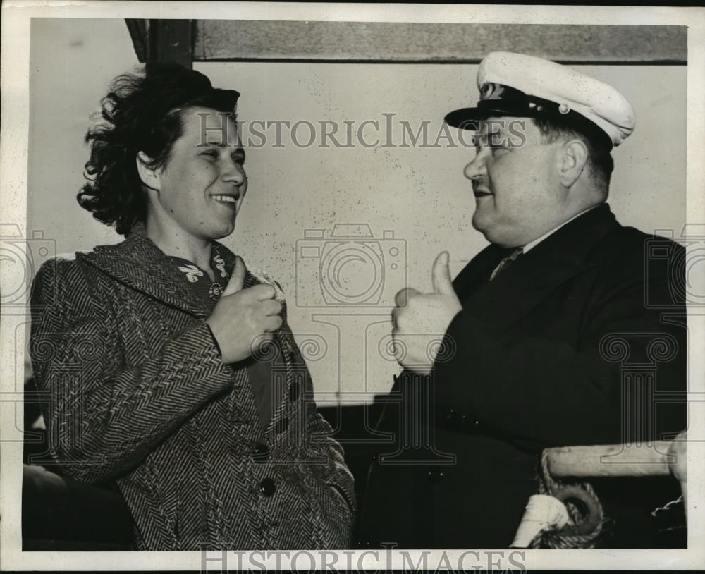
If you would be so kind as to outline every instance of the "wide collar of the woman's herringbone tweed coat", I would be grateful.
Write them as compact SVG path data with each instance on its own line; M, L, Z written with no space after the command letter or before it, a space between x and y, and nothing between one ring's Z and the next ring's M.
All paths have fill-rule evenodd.
M225 261L226 271L232 274L235 255L225 245L217 241L213 243ZM136 224L123 242L99 245L92 252L78 254L77 259L167 305L197 317L209 315L209 310L190 288L183 273L147 237L144 224ZM255 283L255 278L247 273L245 287Z

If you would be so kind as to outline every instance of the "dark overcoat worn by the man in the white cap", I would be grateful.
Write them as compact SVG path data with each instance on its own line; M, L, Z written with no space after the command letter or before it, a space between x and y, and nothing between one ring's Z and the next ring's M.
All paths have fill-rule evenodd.
M388 397L379 428L398 440L369 472L363 546L507 548L543 448L685 428L683 248L603 204L490 281L509 251L489 245L460 272L446 352ZM599 546L654 547L650 513L680 494L673 477L593 486L609 519Z

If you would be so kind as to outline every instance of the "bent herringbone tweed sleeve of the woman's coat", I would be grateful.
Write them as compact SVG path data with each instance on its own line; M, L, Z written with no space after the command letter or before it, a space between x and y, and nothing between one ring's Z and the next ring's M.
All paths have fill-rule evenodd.
M31 305L30 355L37 388L49 398L49 448L82 482L130 470L231 384L204 322L140 365L125 366L120 338L111 331L116 323L79 262L44 264Z

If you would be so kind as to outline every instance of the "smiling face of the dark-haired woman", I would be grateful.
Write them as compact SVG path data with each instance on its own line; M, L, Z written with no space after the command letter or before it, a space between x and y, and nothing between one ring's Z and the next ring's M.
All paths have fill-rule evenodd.
M159 173L152 210L195 238L230 235L247 191L244 163L233 121L212 109L185 110L183 134Z

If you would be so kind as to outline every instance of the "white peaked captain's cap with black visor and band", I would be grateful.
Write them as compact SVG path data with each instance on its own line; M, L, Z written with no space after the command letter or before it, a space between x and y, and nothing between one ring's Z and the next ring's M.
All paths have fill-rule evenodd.
M496 116L547 117L606 135L620 145L634 130L632 105L611 85L568 66L512 52L492 52L477 71L477 107L451 111L446 123L476 130Z

